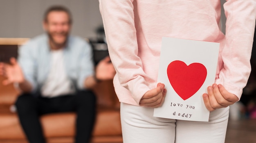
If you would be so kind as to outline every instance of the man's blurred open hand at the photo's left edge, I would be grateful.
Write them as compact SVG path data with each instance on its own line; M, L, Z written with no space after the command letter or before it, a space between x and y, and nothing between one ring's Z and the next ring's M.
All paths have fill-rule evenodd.
M8 85L13 82L22 83L25 81L20 65L15 58L10 59L11 65L0 63L0 75L7 79L2 82L3 85Z

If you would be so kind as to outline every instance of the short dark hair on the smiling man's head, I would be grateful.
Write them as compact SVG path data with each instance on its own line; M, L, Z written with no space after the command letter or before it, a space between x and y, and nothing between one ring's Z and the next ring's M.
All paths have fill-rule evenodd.
M47 22L47 18L50 12L52 11L63 11L65 13L67 13L68 17L69 17L69 23L72 24L72 15L70 13L70 10L67 9L64 6L60 6L60 5L56 5L56 6L51 6L49 7L46 11L45 11L45 15L44 15L44 21Z

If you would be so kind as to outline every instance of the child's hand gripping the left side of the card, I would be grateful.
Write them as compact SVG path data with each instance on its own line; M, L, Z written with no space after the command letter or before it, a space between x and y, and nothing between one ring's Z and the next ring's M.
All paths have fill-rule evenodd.
M157 108L160 107L166 96L164 84L158 83L155 89L147 91L141 98L139 105L144 107Z

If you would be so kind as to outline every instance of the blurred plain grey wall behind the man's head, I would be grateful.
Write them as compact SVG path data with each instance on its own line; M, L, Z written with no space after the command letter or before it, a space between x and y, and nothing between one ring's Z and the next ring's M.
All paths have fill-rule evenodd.
M70 9L72 35L96 37L102 26L98 0L0 0L0 37L32 38L43 33L45 10L52 5Z

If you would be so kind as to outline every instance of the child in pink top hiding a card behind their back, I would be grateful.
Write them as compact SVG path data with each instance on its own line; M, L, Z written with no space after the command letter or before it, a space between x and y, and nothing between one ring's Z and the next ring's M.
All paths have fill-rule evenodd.
M124 143L224 143L229 105L240 99L251 67L255 0L99 0ZM162 37L220 43L216 80L202 95L209 122L153 117L166 95L157 83Z

